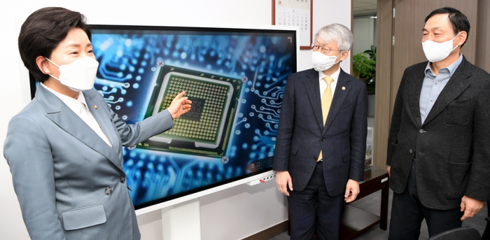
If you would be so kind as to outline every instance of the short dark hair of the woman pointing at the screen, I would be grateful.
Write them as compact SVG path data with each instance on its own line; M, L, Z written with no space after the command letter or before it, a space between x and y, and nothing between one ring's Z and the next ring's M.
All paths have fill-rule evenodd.
M50 58L52 50L76 27L85 31L91 41L90 27L85 22L81 13L55 7L41 8L27 17L18 39L20 58L38 82L42 83L49 76L39 70L36 57Z

